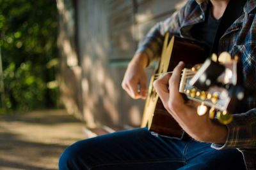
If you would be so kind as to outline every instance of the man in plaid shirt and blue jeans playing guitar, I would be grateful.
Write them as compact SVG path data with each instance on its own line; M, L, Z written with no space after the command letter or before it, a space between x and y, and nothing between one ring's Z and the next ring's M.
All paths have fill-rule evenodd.
M235 17L228 26L227 17L221 23L228 15L227 9ZM132 98L145 99L144 69L161 52L164 33L169 31L204 41L211 52L241 53L244 87L255 90L255 10L254 0L189 0L141 40L122 87ZM219 25L225 27L225 24L227 28L221 32ZM239 114L234 115L232 123L213 124L208 115L197 115L195 102L184 103L180 96L178 87L183 67L184 63L180 62L172 76L166 74L154 82L154 87L166 110L188 135L177 139L147 129L133 129L86 139L65 150L60 169L255 169L255 102L244 101L243 113L237 111Z

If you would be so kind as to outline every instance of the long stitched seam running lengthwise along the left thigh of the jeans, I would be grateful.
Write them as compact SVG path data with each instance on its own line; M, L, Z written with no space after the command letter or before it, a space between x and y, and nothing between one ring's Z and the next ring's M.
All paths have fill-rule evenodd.
M156 161L157 160L157 161ZM155 159L155 161L153 160L146 160L146 161L140 161L140 160L137 160L137 161L129 161L129 162L113 162L113 163L102 163L102 164L97 164L97 165L93 165L93 166L89 166L88 167L88 170L92 170L93 168L95 167L100 167L100 166L113 166L113 165L120 165L120 164L126 164L126 165L129 165L129 164L147 164L147 163L163 163L163 162L184 162L184 164L186 164L186 160L184 159L166 159L166 160L159 160L159 159Z

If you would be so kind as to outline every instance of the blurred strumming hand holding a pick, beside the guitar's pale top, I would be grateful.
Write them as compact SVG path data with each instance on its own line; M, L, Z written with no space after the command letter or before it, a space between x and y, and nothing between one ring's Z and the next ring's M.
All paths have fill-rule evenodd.
M133 99L146 99L147 96L147 56L145 53L138 53L131 60L122 81L123 89Z

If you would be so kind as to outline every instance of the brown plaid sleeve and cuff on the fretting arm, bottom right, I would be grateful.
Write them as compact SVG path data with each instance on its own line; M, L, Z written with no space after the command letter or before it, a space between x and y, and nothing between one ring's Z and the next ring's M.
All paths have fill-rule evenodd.
M216 150L237 148L243 153L246 169L256 168L256 108L246 113L234 115L233 121L227 125L228 136L223 145L212 143Z

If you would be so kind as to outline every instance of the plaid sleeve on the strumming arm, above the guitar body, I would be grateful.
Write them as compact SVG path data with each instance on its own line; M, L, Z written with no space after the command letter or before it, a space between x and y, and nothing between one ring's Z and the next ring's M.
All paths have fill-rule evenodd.
M148 66L161 55L166 31L172 32L173 34L180 34L180 25L185 16L186 6L188 6L188 4L173 13L172 17L154 25L146 36L141 39L136 53L144 52L147 54Z

